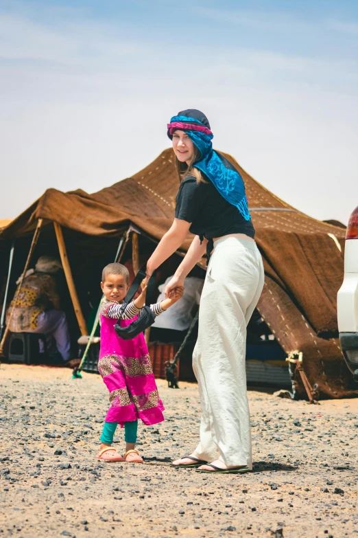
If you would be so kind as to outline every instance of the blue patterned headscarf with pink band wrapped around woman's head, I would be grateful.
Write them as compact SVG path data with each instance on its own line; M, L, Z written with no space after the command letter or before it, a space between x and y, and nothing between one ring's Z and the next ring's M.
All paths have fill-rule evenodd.
M224 155L213 150L211 143L213 133L207 117L195 109L185 110L173 116L167 127L170 139L173 138L173 133L177 129L189 135L200 151L200 157L191 166L204 172L222 197L235 205L246 221L250 221L243 179Z

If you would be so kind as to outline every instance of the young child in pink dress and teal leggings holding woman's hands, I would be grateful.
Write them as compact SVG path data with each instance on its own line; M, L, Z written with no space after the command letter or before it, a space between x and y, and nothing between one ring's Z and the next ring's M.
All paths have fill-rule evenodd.
M159 399L143 333L133 339L123 340L115 332L115 320L119 319L120 305L129 289L128 280L128 269L121 263L110 263L104 267L101 287L106 301L102 304L100 315L98 370L110 392L110 408L99 439L101 446L97 457L107 462L143 463L135 449L138 418L148 426L162 422L164 406ZM126 307L121 317L121 326L128 326L145 304L147 284L144 280L141 288L141 295ZM159 315L177 302L183 291L184 288L176 288L172 298L152 304L150 308L155 315ZM121 427L124 425L124 457L111 446L117 424Z

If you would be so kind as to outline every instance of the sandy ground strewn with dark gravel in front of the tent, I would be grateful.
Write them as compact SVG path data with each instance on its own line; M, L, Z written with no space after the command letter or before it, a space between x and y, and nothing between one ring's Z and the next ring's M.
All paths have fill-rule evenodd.
M208 475L168 463L198 440L197 386L158 388L166 421L139 427L145 464L106 464L99 376L1 365L0 537L358 538L357 400L250 390L254 472Z

